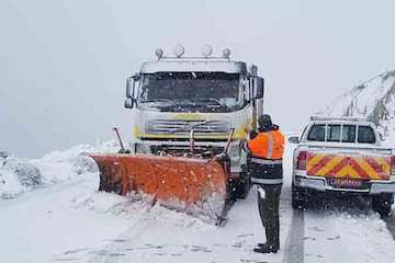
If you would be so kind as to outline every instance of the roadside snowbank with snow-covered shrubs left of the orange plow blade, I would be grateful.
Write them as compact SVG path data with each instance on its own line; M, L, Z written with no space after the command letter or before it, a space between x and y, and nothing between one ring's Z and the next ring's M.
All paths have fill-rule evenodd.
M65 151L53 151L41 159L20 159L0 151L0 199L14 198L25 192L97 172L94 162L83 152L116 152L114 140L101 145L79 145Z

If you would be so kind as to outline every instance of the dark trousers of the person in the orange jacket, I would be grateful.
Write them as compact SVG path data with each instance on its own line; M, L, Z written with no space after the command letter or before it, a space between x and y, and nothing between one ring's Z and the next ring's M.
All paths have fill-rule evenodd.
M264 191L264 198L258 191L259 215L264 227L267 244L280 249L280 195L282 184L258 184Z

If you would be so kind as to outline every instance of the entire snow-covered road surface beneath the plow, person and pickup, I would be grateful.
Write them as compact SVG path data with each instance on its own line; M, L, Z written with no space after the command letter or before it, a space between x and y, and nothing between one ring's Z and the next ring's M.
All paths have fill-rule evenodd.
M337 203L293 214L291 155L289 149L278 254L251 252L264 241L255 188L217 228L144 201L99 193L98 174L86 172L0 201L1 262L395 262L388 230L394 217L385 222L369 207Z

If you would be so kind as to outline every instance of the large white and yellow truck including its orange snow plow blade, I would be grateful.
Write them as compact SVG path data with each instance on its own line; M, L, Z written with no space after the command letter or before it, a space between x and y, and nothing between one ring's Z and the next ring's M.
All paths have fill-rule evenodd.
M127 149L90 157L100 170L99 190L147 194L217 224L229 201L250 190L240 141L263 112L263 79L256 66L230 60L228 48L214 57L206 45L201 57L183 57L178 45L173 54L157 49L157 60L127 78Z

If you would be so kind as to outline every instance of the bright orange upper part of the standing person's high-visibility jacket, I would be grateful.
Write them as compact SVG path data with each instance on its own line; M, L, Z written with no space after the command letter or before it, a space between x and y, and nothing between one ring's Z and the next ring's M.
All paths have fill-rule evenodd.
M248 141L248 148L253 157L279 160L284 153L284 136L280 130L259 133Z

